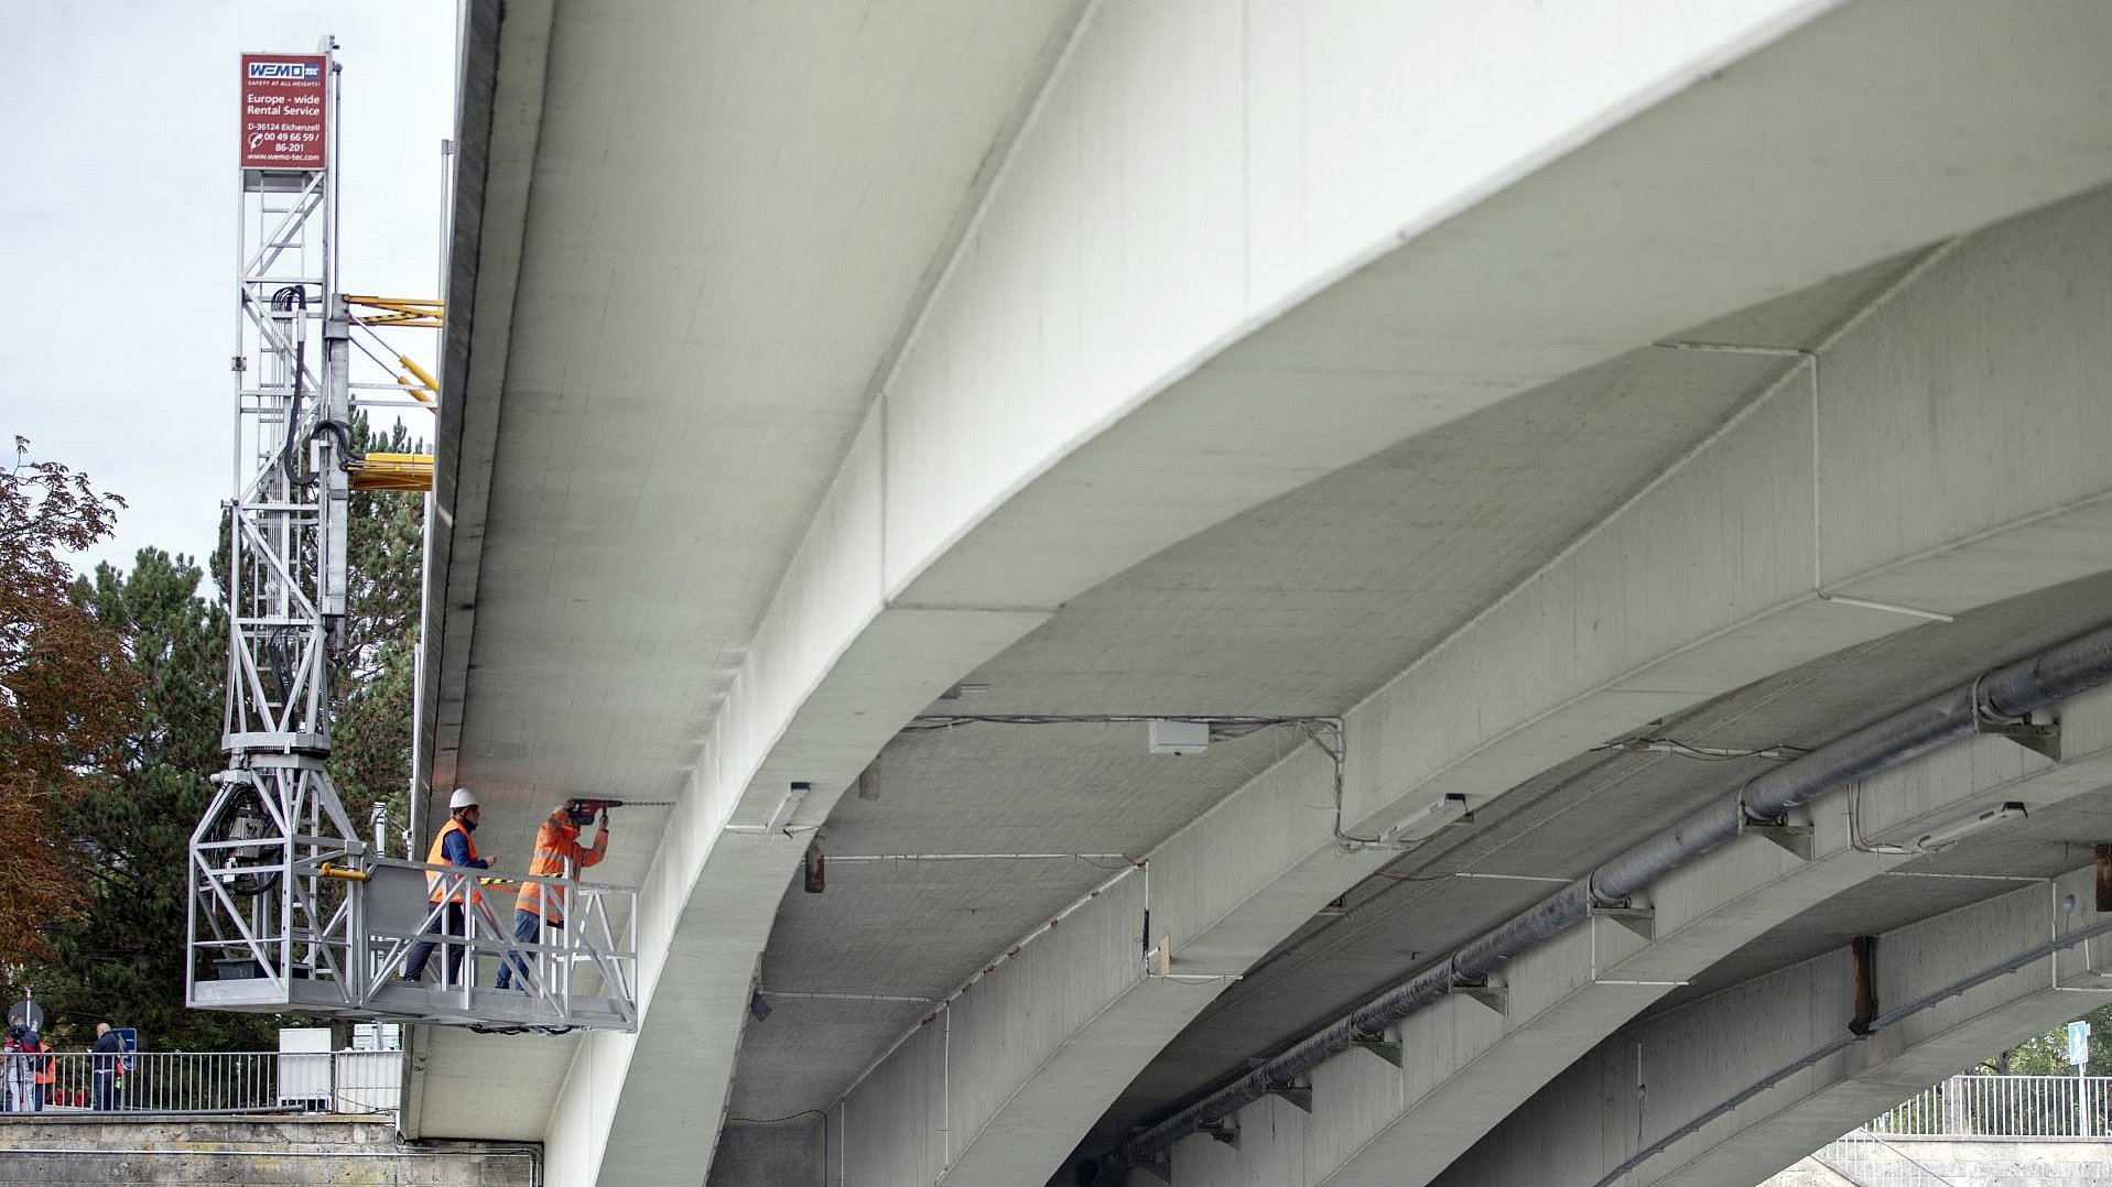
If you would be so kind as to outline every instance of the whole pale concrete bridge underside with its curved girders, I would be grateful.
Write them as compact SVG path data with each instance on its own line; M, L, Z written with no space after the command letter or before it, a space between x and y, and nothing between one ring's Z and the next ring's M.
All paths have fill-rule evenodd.
M2104 625L2106 49L2085 0L473 4L433 786L513 858L564 794L678 807L602 866L640 1033L422 1033L406 1126L553 1183L1115 1181L1690 807ZM1757 1183L2112 984L1990 972L2104 921L2106 705L1157 1170ZM1964 988L1791 1067L1850 936L1880 1001Z

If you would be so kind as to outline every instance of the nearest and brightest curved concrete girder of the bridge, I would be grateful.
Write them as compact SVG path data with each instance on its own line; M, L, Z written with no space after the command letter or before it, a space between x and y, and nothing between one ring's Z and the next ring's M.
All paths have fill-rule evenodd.
M1814 25L1810 38L1783 42L1785 55L1761 55L1751 70L1715 78L1818 8L1639 2L1633 15L1654 21L1652 38L1622 36L1601 17L1563 27L1550 23L1561 17L1525 0L1476 6L1470 27L1447 27L1445 36L1421 27L1375 34L1369 19L1413 23L1385 4L1269 8L1261 27L1210 0L1102 8L1058 70L910 336L714 720L642 908L644 946L676 955L644 961L650 1007L638 1039L596 1035L581 1043L549 1132L553 1176L695 1179L708 1162L701 1138L670 1134L684 1134L684 1122L724 1098L746 995L693 991L695 980L672 974L689 972L691 953L752 965L758 929L722 944L724 934L708 923L718 910L769 919L796 862L794 843L724 841L722 828L767 817L790 779L815 786L800 824L817 822L895 727L1064 598L1400 437L1696 317L2112 175L2112 146L2091 139L2089 129L2078 133L2074 118L2095 93L2095 63L2047 61L2034 53L2044 49L2044 27L1975 17L1973 6L1947 21L1903 4L1856 6ZM2013 57L1990 59L1992 42L2023 44ZM1324 46L1331 70L1320 72L1316 91L1286 95L1278 82L1307 74L1307 44ZM1428 61L1358 53L1381 44ZM1476 55L1476 44L1502 44L1504 53ZM1901 44L1916 53L1901 53ZM2057 49L2074 44L2070 32ZM1457 65L1470 59L1481 63L1474 72ZM1926 61L1951 59L1975 63L1968 74L1977 87L1911 84L1941 76ZM1189 70L1168 72L1168 61ZM2015 65L2004 74L1987 61ZM1888 84L1911 93L1911 103L1867 101L1865 74L1884 63L1899 63ZM1457 144L1462 137L1428 125L1428 112L1481 110L1489 95L1483 68L1519 76L1514 91L1502 91L1519 95L1519 108L1504 114L1500 135L1472 137L1466 156L1432 158L1407 186L1369 177L1369 142L1381 135L1432 150ZM1704 78L1709 87L1630 120ZM1856 78L1852 95L1842 93L1848 78ZM1210 99L1221 89L1227 101ZM1901 137L1903 127L1949 120L1930 103L1954 103L1951 125L1981 129L1966 114L1979 112L1983 91L2028 114L1941 144ZM1373 95L1392 99L1375 103ZM1354 116L1343 108L1343 118L1312 125L1299 114L1305 103L1326 112L1350 103ZM1726 142L1732 129L1736 146ZM2049 146L2023 169L2017 161L2030 152L2019 137L2032 135ZM1178 180L1159 169L1096 167L1130 156L1166 161L1170 144L1193 150L1174 156ZM1888 146L1882 161L1867 152L1871 144ZM1297 190L1280 184L1286 161L1305 161ZM1677 175L1666 175L1666 161L1679 161ZM1635 177L1652 180L1647 201L1633 196ZM1624 196L1607 201L1609 192ZM1246 194L1244 205L1227 207L1227 194ZM1305 194L1358 194L1360 207L1337 220L1341 211L1316 211ZM1723 194L1738 203L1726 205ZM1280 249L1288 226L1350 230L1314 232ZM1246 281L1229 289L1206 283L1227 260L1246 262ZM1711 266L1696 268L1696 260ZM1172 287L1159 291L1143 283L1149 277ZM1236 296L1187 304L1225 291ZM1132 294L1140 304L1111 302L1109 294ZM1381 310L1388 325L1417 332L1381 329L1373 321ZM1284 399L1286 376L1307 397ZM1808 420L1808 408L1787 399L1774 408L1789 412L1770 429L1795 437L1789 420ZM1799 456L1810 454L1808 435L1804 446ZM1761 460L1723 456L1730 467ZM1540 667L1512 657L1512 676L1476 676L1483 714L1457 743L1434 752L1436 771L1396 737L1404 731L1381 724L1373 735L1385 741L1356 758L1369 773L1358 807L1390 811L1404 788L1428 790L1438 773L1472 771L1485 786L1512 777L1510 758L1529 752L1512 733L1563 708L1546 703L1542 689L1616 693L1540 735L1603 737L1605 722L1654 716L1637 712L1643 705L1687 703L1772 672L1785 648L1816 655L1901 625L1818 604L1802 564L1804 577L1780 579L1780 566L1818 543L1808 528L1812 488L1804 473L1780 477L1768 505L1768 515L1776 505L1785 515L1802 507L1802 536L1732 532L1738 539L1711 539L1711 551L1700 553L1728 547L1764 560L1755 589L1738 589L1711 610L1696 598L1685 617L1664 621L1637 598L1626 638L1586 629L1576 655L1550 648ZM1717 492L1687 494L1713 507L1719 526L1745 524L1745 511ZM1138 507L1153 513L1138 515ZM1692 509L1671 515L1700 517ZM1772 532L1774 520L1766 522ZM1614 551L1592 551L1592 560L1660 547L1647 536L1605 541ZM1683 568L1662 555L1656 564L1656 574L1668 564ZM1726 558L1726 572L1732 564ZM1542 583L1550 602L1531 610L1624 596L1584 579L1567 594ZM1527 604L1512 598L1506 606L1500 610L1523 613ZM1717 648L1696 659L1698 644L1749 619L1764 627L1740 636L1736 655L1719 657ZM1464 648L1447 653L1445 663L1459 655ZM1445 676L1457 674L1434 663L1419 680ZM1535 695L1521 695L1521 680L1533 680ZM1442 724L1411 729L1457 724L1453 712L1436 716ZM1466 758L1485 760L1464 767ZM748 872L739 849L750 843L777 845L775 877ZM735 872L714 872L714 853ZM718 898L710 908L691 906L701 896ZM1263 915L1284 912L1284 902L1265 896L1250 902ZM678 988L665 993L670 986ZM672 1084L684 1086L680 1109Z

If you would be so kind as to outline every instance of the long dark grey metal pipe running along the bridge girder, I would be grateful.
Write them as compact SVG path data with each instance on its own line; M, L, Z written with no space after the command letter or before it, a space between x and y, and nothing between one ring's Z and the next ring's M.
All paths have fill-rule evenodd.
M1618 902L1738 836L1747 822L1780 819L1821 794L1897 767L1949 741L1970 737L1979 722L2023 720L2076 693L2112 682L2112 627L2063 642L2051 651L1996 667L1871 722L1818 750L1766 771L1738 792L1702 807L1641 845L1611 858L1584 879L1525 908L1407 982L1366 1001L1347 1018L1263 1062L1244 1077L1189 1105L1124 1145L1130 1162L1164 1151L1202 1126L1221 1122L1259 1100L1267 1086L1286 1084L1360 1035L1432 1005L1457 982L1478 982L1504 963L1552 940L1590 917L1595 902Z

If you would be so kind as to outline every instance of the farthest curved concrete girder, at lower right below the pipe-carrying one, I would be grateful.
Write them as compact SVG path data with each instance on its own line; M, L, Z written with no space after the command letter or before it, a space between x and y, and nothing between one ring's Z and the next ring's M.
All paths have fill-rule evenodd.
M2051 885L2025 885L1880 934L1880 1012L1977 980L2049 938L2104 925L2106 917L2089 908L2091 885L2093 870L2074 870ZM2070 893L2080 904L2072 915L2057 908ZM1751 1187L1833 1141L1844 1126L2099 1005L2099 974L2108 963L2106 938L2061 948L1783 1075L1793 1060L1837 1041L1854 1014L1852 961L1833 950L1624 1031L1436 1183L1599 1187L1643 1149L1704 1122L1635 1162L1620 1183ZM1637 1056L1647 1094L1635 1092ZM1776 1077L1772 1088L1717 1115L1734 1096Z

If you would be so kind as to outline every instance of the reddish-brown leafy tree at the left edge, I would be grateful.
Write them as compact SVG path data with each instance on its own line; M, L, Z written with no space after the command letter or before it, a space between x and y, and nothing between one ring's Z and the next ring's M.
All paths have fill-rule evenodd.
M17 458L30 441L15 437ZM68 553L108 536L125 501L59 463L0 471L0 963L49 955L46 929L87 900L84 853L65 809L137 712L120 638L72 596Z

